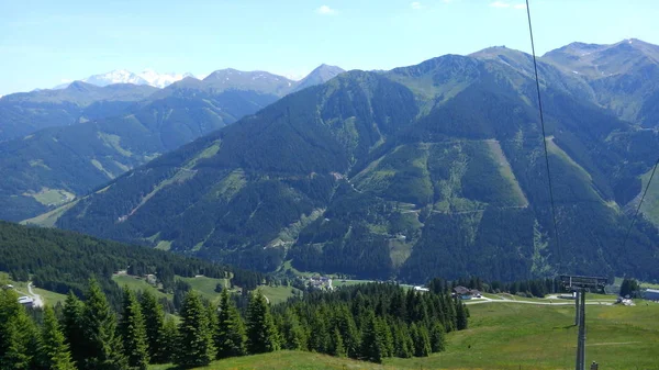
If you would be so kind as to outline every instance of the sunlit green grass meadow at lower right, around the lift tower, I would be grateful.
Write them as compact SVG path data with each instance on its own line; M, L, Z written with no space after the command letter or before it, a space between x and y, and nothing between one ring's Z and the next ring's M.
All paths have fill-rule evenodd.
M447 350L383 366L317 354L279 351L213 362L201 369L573 369L572 306L487 303L469 306L467 330L447 335ZM600 369L658 369L659 304L587 306L587 363ZM152 369L170 369L155 366Z

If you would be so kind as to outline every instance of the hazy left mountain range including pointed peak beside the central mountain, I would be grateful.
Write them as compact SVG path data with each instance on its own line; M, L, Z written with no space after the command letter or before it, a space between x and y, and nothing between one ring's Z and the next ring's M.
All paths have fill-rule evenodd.
M326 68L309 78L323 82L333 76ZM234 78L219 82L222 75ZM0 218L21 221L85 195L257 112L297 86L281 76L231 69L204 80L188 77L164 89L76 81L62 90L7 96L0 99L0 137L14 138L0 141L0 176L5 177L0 182Z

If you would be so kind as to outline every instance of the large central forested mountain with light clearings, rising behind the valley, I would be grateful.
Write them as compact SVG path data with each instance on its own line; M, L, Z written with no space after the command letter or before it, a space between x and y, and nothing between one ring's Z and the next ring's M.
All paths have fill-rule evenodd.
M544 143L530 63L492 48L346 72L131 170L49 220L264 271L290 260L299 270L414 282L659 278L654 224L639 220L622 249L626 211L656 159L656 130L591 99L592 81L540 63Z

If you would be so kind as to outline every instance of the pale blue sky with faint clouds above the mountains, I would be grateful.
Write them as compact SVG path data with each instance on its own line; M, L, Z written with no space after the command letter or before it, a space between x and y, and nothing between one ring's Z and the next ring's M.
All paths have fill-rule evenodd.
M539 54L573 41L659 44L659 1L532 0ZM520 0L0 0L0 94L112 69L302 76L390 69L505 45L529 52Z

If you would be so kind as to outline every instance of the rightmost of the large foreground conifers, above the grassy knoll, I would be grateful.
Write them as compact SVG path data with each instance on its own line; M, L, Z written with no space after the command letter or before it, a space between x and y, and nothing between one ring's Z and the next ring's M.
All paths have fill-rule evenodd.
M247 351L265 354L278 350L278 336L266 299L259 291L252 293L247 306Z

